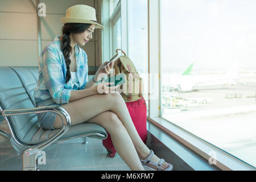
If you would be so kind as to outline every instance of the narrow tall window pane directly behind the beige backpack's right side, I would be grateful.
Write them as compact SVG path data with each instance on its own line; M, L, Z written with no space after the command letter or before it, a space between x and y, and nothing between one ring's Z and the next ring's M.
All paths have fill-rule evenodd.
M129 0L127 1L127 42L128 53L133 61L139 75L143 78L144 93L148 110L147 97L147 75L148 75L148 30L147 30L147 0Z

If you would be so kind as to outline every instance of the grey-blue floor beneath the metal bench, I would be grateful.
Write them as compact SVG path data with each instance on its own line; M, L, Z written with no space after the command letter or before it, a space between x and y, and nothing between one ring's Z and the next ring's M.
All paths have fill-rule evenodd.
M47 147L46 170L85 170L85 171L130 171L130 168L115 154L109 158L102 140L87 137L88 144L82 144L82 138L66 140ZM0 136L0 170L22 170L22 155L18 155L9 140Z

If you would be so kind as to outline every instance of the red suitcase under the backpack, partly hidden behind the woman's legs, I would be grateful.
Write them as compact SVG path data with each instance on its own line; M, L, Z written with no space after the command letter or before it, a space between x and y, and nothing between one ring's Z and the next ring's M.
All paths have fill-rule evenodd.
M146 107L146 101L143 97L137 101L133 102L125 102L127 109L129 110L131 119L133 120L134 126L139 134L139 137L141 137L142 141L144 143L147 142L147 107ZM108 133L108 132L107 132ZM102 140L102 144L108 151L108 155L110 158L113 158L115 156L115 148L113 146L111 136L108 133L108 138Z

